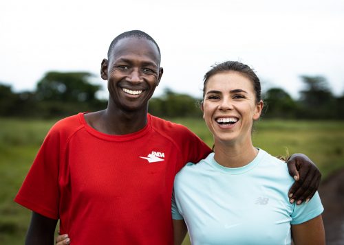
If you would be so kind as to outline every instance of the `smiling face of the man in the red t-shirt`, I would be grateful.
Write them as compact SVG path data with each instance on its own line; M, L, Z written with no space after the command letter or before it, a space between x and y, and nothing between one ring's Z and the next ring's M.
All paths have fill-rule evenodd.
M146 109L162 76L158 48L145 38L123 38L103 60L101 76L115 108Z

